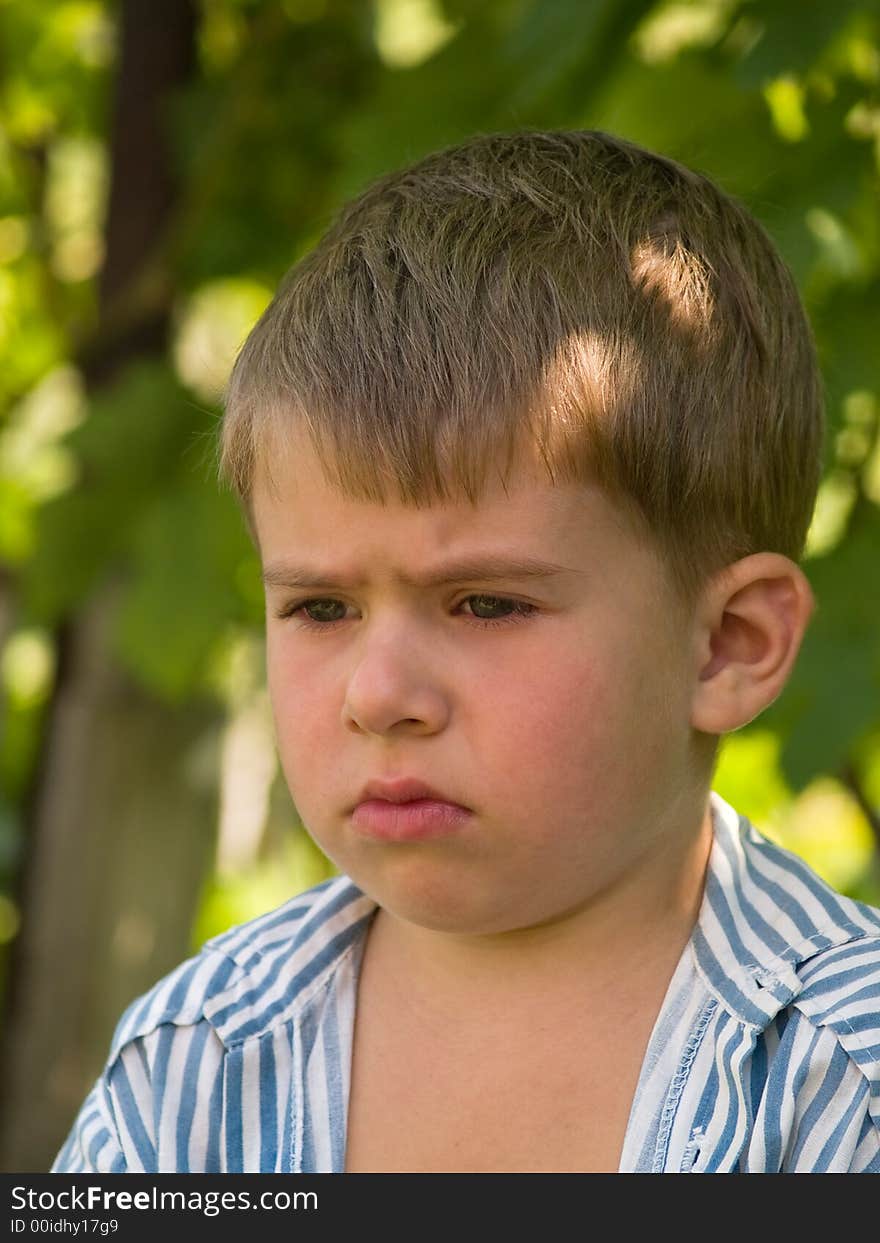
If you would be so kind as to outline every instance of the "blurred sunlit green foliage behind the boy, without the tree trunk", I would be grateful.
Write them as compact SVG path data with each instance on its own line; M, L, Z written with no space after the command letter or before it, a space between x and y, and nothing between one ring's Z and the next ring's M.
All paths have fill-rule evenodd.
M0 4L0 940L17 920L53 645L89 593L122 584L118 659L169 704L220 696L231 728L259 692L259 567L215 486L213 438L272 288L370 178L517 127L610 129L700 168L747 203L799 282L828 392L805 563L819 608L784 695L727 740L716 788L880 900L878 4L201 0L196 72L163 101L173 337L86 392L118 20L102 0ZM260 772L275 813L237 879L209 884L196 940L327 874L292 807L268 797L277 771Z

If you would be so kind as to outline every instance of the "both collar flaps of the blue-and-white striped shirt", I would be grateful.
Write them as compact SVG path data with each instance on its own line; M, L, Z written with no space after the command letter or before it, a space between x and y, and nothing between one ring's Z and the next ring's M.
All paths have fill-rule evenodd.
M800 992L802 962L869 929L858 904L762 837L715 792L710 810L704 897L685 952L712 996L764 1028ZM267 917L262 943L249 937L237 953L224 943L244 968L205 1008L224 1044L260 1037L302 1013L343 960L363 947L375 910L352 880L338 876Z

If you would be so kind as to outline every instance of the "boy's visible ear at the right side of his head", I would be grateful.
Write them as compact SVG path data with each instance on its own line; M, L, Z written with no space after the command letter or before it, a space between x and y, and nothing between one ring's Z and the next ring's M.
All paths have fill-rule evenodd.
M813 607L805 574L779 553L743 557L710 580L696 609L694 728L727 733L773 702Z

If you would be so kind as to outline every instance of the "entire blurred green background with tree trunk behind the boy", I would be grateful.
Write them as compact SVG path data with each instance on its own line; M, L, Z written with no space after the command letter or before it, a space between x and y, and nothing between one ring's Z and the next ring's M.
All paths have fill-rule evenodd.
M819 607L715 786L880 902L876 4L2 0L0 41L5 1167L51 1160L122 1004L332 870L277 769L220 393L341 203L476 132L655 148L791 265L828 399Z

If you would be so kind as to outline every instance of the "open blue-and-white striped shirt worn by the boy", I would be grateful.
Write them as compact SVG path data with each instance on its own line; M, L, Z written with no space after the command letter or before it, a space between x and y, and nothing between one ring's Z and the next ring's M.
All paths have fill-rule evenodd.
M620 1172L880 1173L880 911L717 794L692 936ZM375 904L339 876L209 941L122 1016L53 1172L341 1172Z

